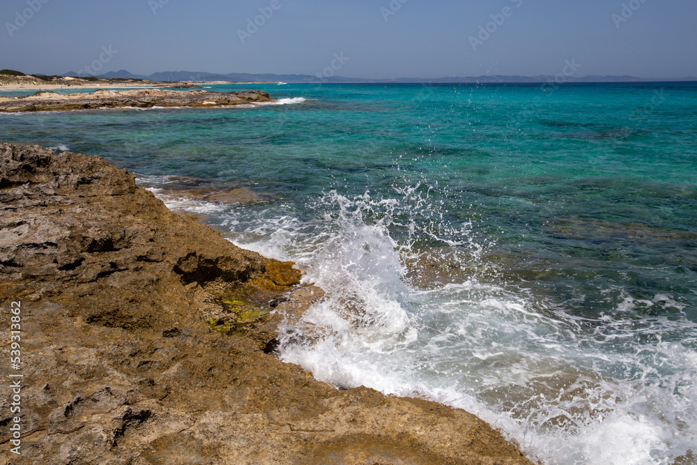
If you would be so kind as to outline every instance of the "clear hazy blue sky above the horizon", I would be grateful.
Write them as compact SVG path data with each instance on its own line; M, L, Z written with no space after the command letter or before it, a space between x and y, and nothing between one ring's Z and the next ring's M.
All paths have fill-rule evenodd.
M695 0L2 0L0 68L675 78L696 22Z

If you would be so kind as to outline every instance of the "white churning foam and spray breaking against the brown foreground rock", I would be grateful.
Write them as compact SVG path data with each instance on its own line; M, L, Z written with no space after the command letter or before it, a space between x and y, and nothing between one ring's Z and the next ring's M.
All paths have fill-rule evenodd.
M440 222L418 187L392 199L330 192L303 221L282 205L215 207L238 245L297 261L326 291L301 326L281 328L282 360L336 386L466 409L544 464L671 464L695 449L697 325L680 303L621 292L613 312L589 319L475 277L418 287L405 264L450 262L453 252L420 250L415 237L440 238L464 265L485 248L469 224ZM399 241L395 229L406 231ZM678 313L645 316L656 308Z

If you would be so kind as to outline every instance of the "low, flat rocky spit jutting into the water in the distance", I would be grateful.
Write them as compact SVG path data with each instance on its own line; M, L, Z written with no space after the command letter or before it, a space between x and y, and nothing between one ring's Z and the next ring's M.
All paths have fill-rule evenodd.
M211 108L245 103L273 102L266 92L135 91L99 90L92 93L55 93L40 91L33 96L2 97L0 112L57 112L101 108L195 107Z

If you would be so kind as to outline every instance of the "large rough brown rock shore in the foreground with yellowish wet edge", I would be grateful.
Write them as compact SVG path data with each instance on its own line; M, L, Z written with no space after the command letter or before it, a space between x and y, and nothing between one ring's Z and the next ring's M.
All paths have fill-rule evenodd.
M475 416L337 390L273 357L320 289L98 157L0 144L0 360L21 302L8 464L529 464ZM6 386L6 385L5 385ZM10 452L20 418L21 455Z

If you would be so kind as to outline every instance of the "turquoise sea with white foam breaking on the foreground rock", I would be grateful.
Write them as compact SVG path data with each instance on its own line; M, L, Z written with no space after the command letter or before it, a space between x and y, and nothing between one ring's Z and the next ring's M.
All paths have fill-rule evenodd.
M278 356L317 379L461 407L544 464L696 463L696 83L211 88L281 100L0 114L0 139L296 261L327 295Z

